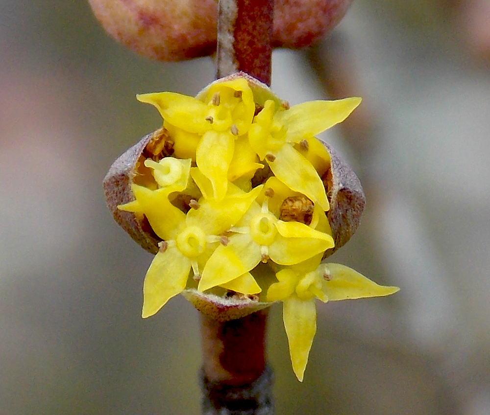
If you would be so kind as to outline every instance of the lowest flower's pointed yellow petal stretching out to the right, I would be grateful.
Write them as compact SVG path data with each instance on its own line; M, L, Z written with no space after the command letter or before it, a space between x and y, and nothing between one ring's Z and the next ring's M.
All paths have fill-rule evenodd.
M319 272L325 275L322 291L331 301L383 297L399 290L398 287L378 285L352 268L341 264L322 264L319 266Z

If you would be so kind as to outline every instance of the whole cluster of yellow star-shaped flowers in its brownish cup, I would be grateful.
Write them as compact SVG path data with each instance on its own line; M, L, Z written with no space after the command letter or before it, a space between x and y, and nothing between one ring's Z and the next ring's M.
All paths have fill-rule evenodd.
M134 166L117 161L105 185L113 208L114 186L126 186L115 192L115 200L126 203L113 213L156 253L144 281L143 317L184 290L223 301L283 301L293 369L302 380L316 332L316 299L398 290L321 262L357 223L351 231L340 228L358 217L337 199L330 211L332 151L315 135L342 122L361 99L290 108L245 74L215 81L196 98L157 92L138 99L159 110L163 127L130 149ZM125 174L115 172L122 167Z

